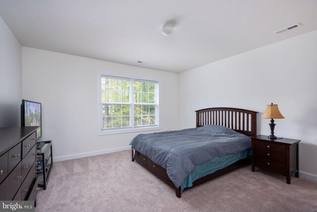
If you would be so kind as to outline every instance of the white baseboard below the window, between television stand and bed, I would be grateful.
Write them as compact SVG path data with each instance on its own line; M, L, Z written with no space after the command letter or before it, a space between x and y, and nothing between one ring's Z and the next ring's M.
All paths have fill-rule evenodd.
M71 160L71 159L76 159L76 158L81 158L81 157L89 157L89 156L95 156L99 154L107 154L111 152L116 152L116 151L123 151L123 150L129 150L131 149L131 146L123 146L119 148L110 148L110 149L104 149L104 150L99 150L99 151L89 151L89 152L84 152L84 153L79 153L79 154L69 154L65 156L58 156L58 157L53 157L53 162L57 161L63 161L63 160Z

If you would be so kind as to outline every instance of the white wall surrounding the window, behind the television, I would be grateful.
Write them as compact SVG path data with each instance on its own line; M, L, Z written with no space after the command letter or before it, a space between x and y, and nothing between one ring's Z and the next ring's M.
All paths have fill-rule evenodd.
M42 141L53 140L56 160L121 150L124 149L121 147L129 145L133 137L142 133L98 136L100 71L159 81L161 130L178 129L176 73L28 47L22 48L22 70L22 96L42 103Z

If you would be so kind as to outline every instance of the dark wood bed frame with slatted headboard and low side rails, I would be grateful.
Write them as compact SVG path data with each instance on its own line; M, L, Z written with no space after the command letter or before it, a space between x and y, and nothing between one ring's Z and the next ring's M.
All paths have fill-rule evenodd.
M251 110L239 109L239 108L227 108L216 107L197 110L196 112L196 127L203 127L204 125L221 125L227 128L231 128L236 132L244 134L246 136L257 135L257 113ZM250 141L251 142L251 141ZM176 191L176 196L181 198L181 188L176 187L169 179L166 169L154 163L150 158L141 154L137 150L132 149L132 161L136 160L159 179L167 183ZM248 163L248 158L239 160L223 169L220 169L214 173L199 178L193 182L193 188L197 185L205 183L211 179L219 177L223 174L236 170ZM185 188L187 190L189 188Z

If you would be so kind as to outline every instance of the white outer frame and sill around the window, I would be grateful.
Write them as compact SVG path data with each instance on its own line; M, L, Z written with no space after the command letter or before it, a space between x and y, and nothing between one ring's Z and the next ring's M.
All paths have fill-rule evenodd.
M145 126L145 127L132 127L132 128L115 128L115 129L108 129L108 130L102 130L102 102L101 102L101 79L102 76L106 75L113 78L126 78L126 79L134 79L134 80L141 80L141 81L153 81L158 82L159 89L158 89L158 124L155 126ZM149 77L150 78L150 77ZM132 105L134 105L134 101L132 99L131 102ZM110 73L104 73L104 72L98 72L98 136L103 135L112 135L112 134L122 134L122 133L134 133L134 132L143 132L143 131L158 131L160 130L160 81L155 79L142 79L139 77L129 77L129 76L122 76L121 74L110 74Z

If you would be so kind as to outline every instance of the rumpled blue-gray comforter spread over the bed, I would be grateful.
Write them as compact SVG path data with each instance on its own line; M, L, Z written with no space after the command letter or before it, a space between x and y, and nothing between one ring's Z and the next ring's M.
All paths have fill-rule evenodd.
M130 145L165 168L176 187L181 185L196 165L216 156L251 148L249 137L217 125L140 134Z

